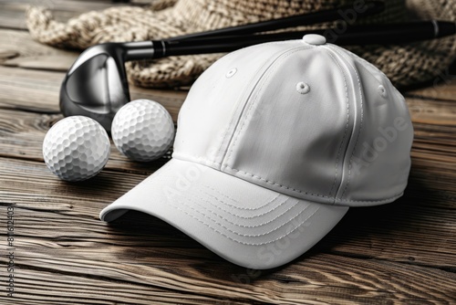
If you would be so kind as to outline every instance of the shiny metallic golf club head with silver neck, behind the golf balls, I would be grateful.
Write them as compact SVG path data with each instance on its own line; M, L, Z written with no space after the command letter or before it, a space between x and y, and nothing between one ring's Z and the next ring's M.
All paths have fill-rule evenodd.
M116 112L130 101L125 61L152 56L150 41L88 47L62 82L60 110L66 117L92 118L110 131Z

